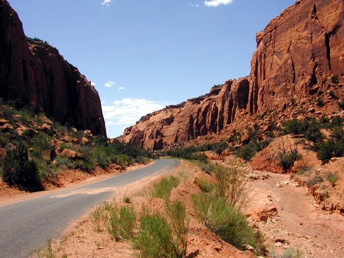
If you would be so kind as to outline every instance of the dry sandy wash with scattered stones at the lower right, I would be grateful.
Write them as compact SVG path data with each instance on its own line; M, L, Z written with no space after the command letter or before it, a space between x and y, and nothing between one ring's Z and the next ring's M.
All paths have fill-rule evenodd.
M248 208L275 206L278 214L267 222L253 222L267 236L266 245L282 253L294 247L304 258L344 258L344 217L323 211L288 174L268 173L270 178L250 181Z

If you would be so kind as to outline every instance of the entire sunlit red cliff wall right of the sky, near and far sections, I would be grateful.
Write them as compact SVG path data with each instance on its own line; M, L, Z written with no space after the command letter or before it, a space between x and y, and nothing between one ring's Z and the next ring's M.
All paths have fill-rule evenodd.
M343 18L342 0L298 0L257 33L250 76L146 115L125 130L122 140L161 149L314 94L316 85L344 72Z

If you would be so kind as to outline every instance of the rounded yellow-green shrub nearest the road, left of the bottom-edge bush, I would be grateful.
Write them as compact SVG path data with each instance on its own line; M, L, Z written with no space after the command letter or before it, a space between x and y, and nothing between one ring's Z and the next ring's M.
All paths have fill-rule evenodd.
M116 241L128 239L134 234L136 212L132 206L118 206L113 203L105 217L105 228Z

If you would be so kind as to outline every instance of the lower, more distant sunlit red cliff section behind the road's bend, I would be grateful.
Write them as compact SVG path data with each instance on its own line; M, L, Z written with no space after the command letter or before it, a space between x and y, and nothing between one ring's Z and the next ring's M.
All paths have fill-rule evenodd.
M214 86L205 97L189 99L146 115L136 125L125 129L122 140L147 149L162 149L220 132L240 110L246 109L249 88L247 78Z

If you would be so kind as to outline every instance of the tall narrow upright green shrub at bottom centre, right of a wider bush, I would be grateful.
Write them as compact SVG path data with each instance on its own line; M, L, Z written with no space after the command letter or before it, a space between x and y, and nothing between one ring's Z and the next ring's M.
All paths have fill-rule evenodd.
M184 202L166 202L166 213L171 221L172 233L175 235L176 257L185 258L188 243L189 219L186 217Z

